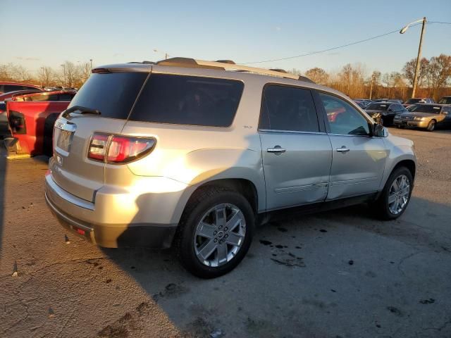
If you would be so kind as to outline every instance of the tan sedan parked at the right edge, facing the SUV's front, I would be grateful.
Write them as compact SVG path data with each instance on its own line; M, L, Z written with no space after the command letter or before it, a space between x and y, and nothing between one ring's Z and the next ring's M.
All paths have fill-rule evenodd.
M451 128L451 106L446 104L416 104L412 111L395 117L393 123L399 127Z

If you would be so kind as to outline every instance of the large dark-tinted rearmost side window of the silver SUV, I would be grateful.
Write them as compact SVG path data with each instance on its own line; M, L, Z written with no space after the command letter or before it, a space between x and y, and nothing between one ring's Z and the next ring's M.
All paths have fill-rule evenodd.
M235 117L243 87L237 80L153 74L130 120L228 127Z

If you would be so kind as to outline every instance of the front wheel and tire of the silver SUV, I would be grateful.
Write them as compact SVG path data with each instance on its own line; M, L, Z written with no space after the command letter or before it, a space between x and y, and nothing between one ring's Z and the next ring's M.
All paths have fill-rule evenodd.
M412 195L414 179L406 167L393 170L381 195L374 204L374 212L381 220L395 220L404 213Z

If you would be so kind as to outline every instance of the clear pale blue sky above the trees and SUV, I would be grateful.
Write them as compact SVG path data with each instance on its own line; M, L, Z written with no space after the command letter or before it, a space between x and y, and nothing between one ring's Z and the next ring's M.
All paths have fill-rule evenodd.
M0 64L37 71L65 61L157 61L165 53L235 63L285 58L382 35L424 16L450 23L451 1L0 0L0 16ZM404 35L249 65L335 72L360 63L367 73L400 71L416 58L420 32L417 25ZM422 55L442 53L451 54L451 25L428 24Z

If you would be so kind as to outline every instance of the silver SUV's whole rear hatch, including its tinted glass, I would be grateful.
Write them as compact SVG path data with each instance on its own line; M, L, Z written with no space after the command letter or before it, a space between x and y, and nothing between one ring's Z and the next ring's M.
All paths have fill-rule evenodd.
M73 98L73 113L63 113L54 128L51 175L70 194L94 201L104 185L105 163L87 158L94 132L120 134L151 68L110 68L93 73ZM100 114L93 113L99 111Z

